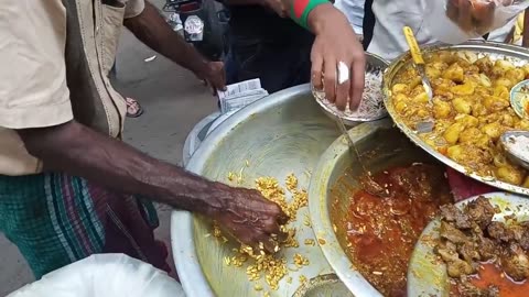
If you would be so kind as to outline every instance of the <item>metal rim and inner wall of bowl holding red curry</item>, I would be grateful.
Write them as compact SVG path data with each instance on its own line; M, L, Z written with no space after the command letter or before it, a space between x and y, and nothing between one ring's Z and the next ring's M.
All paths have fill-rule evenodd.
M349 130L349 135L363 155L363 163L374 174L414 162L438 164L435 158L393 128L389 119L357 125ZM349 290L357 297L381 296L355 270L355 264L344 252L347 242L342 220L347 218L350 189L358 186L358 178L363 175L361 166L352 161L348 150L341 138L320 158L309 190L312 226L325 257ZM348 168L352 170L344 175ZM331 200L331 190L337 197L336 201Z

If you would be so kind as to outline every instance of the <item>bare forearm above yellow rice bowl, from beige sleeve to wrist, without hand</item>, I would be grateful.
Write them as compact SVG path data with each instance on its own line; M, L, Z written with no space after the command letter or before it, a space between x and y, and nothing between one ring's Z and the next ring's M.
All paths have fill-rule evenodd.
M212 213L223 208L222 198L209 195L223 196L227 187L149 157L76 121L18 132L30 154L44 162L45 170L83 176L179 209Z

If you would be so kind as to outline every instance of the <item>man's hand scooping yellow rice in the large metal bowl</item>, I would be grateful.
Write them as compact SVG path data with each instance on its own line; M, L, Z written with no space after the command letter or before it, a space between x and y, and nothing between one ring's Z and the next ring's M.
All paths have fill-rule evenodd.
M214 212L215 220L255 251L277 252L279 242L287 238L280 226L289 219L281 208L257 190L226 187L224 193L227 195L224 199L226 205Z

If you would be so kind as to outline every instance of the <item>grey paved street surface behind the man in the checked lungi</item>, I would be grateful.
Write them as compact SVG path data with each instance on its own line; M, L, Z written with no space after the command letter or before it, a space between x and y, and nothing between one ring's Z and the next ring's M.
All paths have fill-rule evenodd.
M159 7L162 0L153 1ZM126 122L125 141L139 150L180 164L185 138L193 125L216 109L216 101L193 74L154 53L125 32L118 53L118 89L140 101L145 112ZM169 242L169 209L160 208L159 238ZM20 255L0 234L0 296L33 280Z

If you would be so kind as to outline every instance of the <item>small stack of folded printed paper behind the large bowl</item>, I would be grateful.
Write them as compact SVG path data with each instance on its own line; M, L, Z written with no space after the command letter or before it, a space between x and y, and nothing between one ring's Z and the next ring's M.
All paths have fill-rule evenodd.
M268 96L268 91L261 88L259 79L229 85L226 91L218 92L220 112L225 114L241 109L264 96Z

